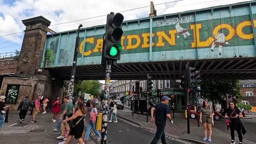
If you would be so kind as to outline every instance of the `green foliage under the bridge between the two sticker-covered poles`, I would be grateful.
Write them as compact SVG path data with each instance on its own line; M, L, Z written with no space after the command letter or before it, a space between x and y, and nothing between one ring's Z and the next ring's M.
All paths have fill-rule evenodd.
M79 91L81 91L82 93L98 95L100 93L100 87L101 83L96 80L76 81L74 85L74 92L78 93Z

